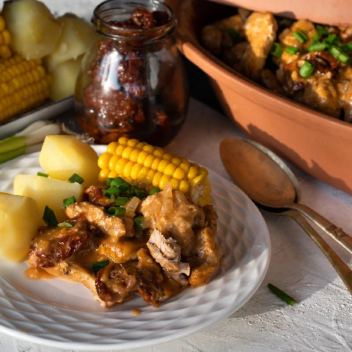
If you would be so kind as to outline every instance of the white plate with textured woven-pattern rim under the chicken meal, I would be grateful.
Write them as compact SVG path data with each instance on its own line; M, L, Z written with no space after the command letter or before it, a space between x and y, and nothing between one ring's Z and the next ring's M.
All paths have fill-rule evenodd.
M96 146L98 153L106 146ZM39 153L0 167L0 191L12 192L18 173L41 170ZM234 184L209 173L218 212L220 265L210 283L187 289L153 308L136 296L104 309L82 284L32 281L27 263L0 260L0 331L57 348L84 351L137 348L178 339L226 318L258 289L270 260L268 228L252 201ZM133 316L139 308L142 313Z

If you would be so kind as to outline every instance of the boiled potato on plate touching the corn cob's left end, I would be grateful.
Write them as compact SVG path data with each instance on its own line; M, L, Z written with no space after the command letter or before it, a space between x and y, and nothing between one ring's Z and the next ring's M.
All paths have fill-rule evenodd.
M96 152L92 146L73 136L46 136L39 154L39 163L56 180L67 181L76 173L84 179L84 186L99 184Z

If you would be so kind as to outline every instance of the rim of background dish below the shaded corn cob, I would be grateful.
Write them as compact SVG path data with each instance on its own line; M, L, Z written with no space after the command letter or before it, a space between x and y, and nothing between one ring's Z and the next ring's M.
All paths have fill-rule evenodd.
M68 96L59 101L47 103L46 105L40 106L28 113L24 113L23 115L18 116L18 118L13 118L13 120L0 125L0 139L11 136L16 132L20 132L34 121L54 118L70 108L73 108L73 96Z

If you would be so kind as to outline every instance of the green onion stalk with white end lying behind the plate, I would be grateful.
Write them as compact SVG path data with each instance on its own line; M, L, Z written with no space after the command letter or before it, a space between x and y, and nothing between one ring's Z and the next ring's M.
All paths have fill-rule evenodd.
M26 153L42 148L42 142L48 134L60 134L61 127L48 120L33 122L23 131L0 140L0 163L5 163Z

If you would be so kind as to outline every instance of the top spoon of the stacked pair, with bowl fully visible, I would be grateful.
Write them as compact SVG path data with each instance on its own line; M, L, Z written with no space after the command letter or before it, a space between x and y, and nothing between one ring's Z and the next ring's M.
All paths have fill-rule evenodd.
M249 139L224 139L220 156L234 183L271 213L284 208L298 210L312 220L348 252L352 253L352 238L314 210L298 203L301 191L298 180L289 167L265 146Z

